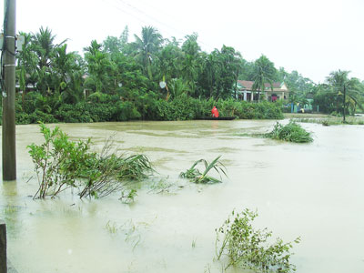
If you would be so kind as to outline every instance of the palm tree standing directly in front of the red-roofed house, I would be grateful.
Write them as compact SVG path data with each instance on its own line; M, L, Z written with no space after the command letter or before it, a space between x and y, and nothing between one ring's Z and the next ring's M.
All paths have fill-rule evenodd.
M258 102L260 91L264 91L265 84L269 83L270 88L273 91L273 80L276 76L277 70L274 64L269 61L267 56L260 56L254 63L254 84L253 90L258 90Z

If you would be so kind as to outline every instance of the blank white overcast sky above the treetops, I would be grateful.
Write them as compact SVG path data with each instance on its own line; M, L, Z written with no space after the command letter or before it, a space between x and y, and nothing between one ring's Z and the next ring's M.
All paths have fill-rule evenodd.
M92 39L119 36L129 42L142 26L165 37L194 32L210 52L233 46L248 61L264 54L278 68L324 82L334 70L364 80L363 0L17 0L16 30L48 26L57 41L79 51ZM4 21L1 17L2 22Z

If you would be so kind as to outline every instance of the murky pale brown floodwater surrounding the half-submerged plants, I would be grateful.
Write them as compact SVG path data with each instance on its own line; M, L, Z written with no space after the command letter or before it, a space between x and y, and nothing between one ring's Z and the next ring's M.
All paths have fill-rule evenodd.
M283 122L288 122L285 120ZM17 181L0 185L8 258L19 273L222 272L215 228L233 209L257 209L255 227L301 242L298 273L364 272L364 126L302 124L311 144L241 136L275 121L127 122L59 125L95 149L144 153L157 174L120 194L79 200L76 190L33 200L37 181L26 146L40 144L36 125L16 127ZM179 179L200 158L222 155L228 177L216 185ZM228 269L227 272L239 272Z

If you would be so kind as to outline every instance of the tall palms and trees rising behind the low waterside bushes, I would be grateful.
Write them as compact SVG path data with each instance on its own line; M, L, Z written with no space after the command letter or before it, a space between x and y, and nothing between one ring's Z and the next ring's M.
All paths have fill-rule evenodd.
M41 111L59 116L55 111L62 110L61 106L121 100L130 111L139 112L136 118L155 118L149 115L150 109L137 105L147 100L172 102L180 96L236 98L238 79L254 81L258 93L266 83L284 81L291 91L289 102L305 104L312 96L324 112L340 113L342 107L355 111L362 106L363 83L350 79L349 72L333 72L326 84L316 85L297 71L277 69L264 55L248 62L227 45L204 52L197 34L180 41L164 38L155 27L145 26L130 42L126 26L119 37L107 36L102 43L93 40L84 48L84 56L68 52L67 40L56 44L56 35L49 28L20 35L25 36L25 44L17 53L16 78L23 91L18 95L17 110L28 115ZM340 73L344 76L341 81L350 83L345 85L348 96L341 106L342 84L334 80L334 74ZM165 85L159 86L160 82Z

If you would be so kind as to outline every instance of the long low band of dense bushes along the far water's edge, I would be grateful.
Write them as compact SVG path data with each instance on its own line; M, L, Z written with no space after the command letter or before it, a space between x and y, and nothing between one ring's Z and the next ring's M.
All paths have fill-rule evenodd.
M126 100L116 95L94 93L88 96L86 101L71 105L63 103L56 96L42 96L29 92L25 95L24 102L21 96L17 97L16 123L191 120L211 116L213 106L217 106L220 116L236 116L241 119L283 118L282 107L278 103L250 103L232 98L206 100L181 94L173 100L166 100L149 91Z

